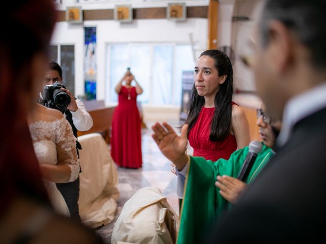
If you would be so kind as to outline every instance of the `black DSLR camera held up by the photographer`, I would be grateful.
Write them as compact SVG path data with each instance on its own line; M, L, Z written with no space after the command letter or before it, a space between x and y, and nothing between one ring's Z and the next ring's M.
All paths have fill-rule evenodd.
M44 86L42 93L43 98L40 99L40 103L45 107L54 108L65 113L70 103L70 97L66 92L60 89L61 87L67 89L66 86L60 82Z

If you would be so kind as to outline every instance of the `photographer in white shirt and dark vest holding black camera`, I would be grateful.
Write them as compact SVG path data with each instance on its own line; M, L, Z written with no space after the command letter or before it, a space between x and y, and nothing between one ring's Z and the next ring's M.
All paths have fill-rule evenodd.
M45 72L44 89L41 103L50 108L55 108L66 115L66 119L72 127L74 136L77 138L77 130L88 131L93 126L93 119L86 111L85 105L79 99L75 99L71 92L62 84L62 69L56 62L49 62ZM82 149L76 141L76 149ZM70 216L80 220L78 210L79 177L68 183L57 184L58 190L63 195L69 208Z

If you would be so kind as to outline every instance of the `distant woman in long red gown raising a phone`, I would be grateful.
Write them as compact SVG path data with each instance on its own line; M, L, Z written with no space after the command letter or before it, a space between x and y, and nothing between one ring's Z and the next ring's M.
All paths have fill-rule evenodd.
M135 86L131 85L132 80ZM115 90L118 94L118 106L112 120L111 155L120 167L140 168L143 161L137 96L143 93L143 89L128 70Z

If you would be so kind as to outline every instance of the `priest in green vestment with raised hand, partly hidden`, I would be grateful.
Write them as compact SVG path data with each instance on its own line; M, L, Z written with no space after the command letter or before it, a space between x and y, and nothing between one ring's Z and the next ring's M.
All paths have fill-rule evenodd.
M189 157L184 153L187 125L182 127L180 137L167 123L162 125L156 123L152 127L153 139L161 152L175 164L178 177L185 181L177 243L202 243L212 223L224 210L236 203L247 184L274 156L271 147L274 146L275 131L280 130L280 123L272 121L263 109L257 109L262 150L245 182L236 177L249 152L248 146L234 151L229 160L212 162L200 157Z

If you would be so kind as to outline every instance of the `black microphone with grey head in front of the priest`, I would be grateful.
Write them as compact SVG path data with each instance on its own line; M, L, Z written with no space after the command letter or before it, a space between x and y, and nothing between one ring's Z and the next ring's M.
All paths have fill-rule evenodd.
M259 141L252 141L249 144L249 153L242 164L242 168L239 172L238 179L245 182L248 178L249 172L255 163L257 155L262 149L262 144Z

